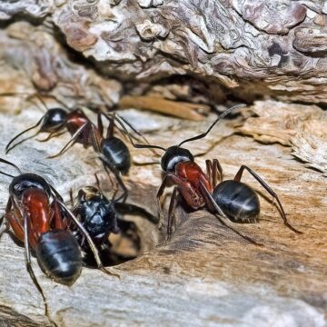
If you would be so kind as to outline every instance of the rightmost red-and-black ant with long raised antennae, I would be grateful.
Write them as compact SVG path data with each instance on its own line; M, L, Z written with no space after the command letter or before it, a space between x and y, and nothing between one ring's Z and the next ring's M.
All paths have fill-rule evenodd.
M206 173L203 173L201 167L194 162L193 154L191 154L191 152L186 148L182 147L182 145L187 142L202 139L210 133L213 126L222 120L224 116L230 114L233 110L244 106L245 104L236 104L233 107L226 109L223 114L220 114L215 119L206 132L183 140L180 144L170 146L167 149L160 145L133 144L136 148L151 147L164 151L161 159L161 167L164 173L163 183L156 195L160 221L162 221L163 218L161 198L164 189L168 184L175 185L168 209L167 236L164 243L168 242L172 236L173 211L178 194L180 193L183 200L192 209L198 210L206 205L207 208L215 213L216 217L226 227L232 229L234 233L238 233L251 243L261 245L243 233L236 231L230 224L230 220L233 222L255 223L260 213L260 202L257 194L250 186L241 182L244 170L251 173L253 177L263 185L263 188L277 201L280 213L282 214L283 223L290 228L292 232L301 233L288 223L286 214L282 208L282 203L277 194L274 193L272 188L265 183L257 173L253 172L251 168L243 165L239 172L236 173L233 180L221 182L223 180L223 169L217 159L213 159L213 161L206 160Z

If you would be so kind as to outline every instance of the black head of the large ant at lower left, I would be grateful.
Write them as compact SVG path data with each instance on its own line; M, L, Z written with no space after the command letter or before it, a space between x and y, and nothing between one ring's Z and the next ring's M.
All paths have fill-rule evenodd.
M37 188L45 191L48 196L51 195L51 188L45 179L35 173L21 173L13 178L9 185L9 193L20 200L22 194L30 188Z

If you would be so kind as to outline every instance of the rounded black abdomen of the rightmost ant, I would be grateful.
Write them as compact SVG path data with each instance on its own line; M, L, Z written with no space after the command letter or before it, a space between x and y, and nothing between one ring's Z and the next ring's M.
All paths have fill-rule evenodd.
M229 218L238 223L255 223L260 213L258 195L248 185L229 180L213 190L213 199Z

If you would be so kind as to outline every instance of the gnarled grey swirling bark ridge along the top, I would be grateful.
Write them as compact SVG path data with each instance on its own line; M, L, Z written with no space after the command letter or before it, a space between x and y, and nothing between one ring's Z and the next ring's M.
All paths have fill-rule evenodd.
M189 74L204 91L223 85L245 100L271 94L326 103L323 1L21 0L0 13L46 16L68 45L118 79L147 84Z

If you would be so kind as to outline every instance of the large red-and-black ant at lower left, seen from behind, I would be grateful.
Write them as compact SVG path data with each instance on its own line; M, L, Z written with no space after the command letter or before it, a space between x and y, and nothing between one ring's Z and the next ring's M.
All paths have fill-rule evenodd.
M67 208L54 187L40 175L22 173L14 163L5 159L0 158L0 162L15 167L19 173L13 176L0 171L13 178L9 184L9 199L1 219L0 234L11 227L15 238L24 243L27 271L44 300L45 296L33 272L30 247L48 277L55 282L72 285L80 275L83 258L73 233L69 231L70 223L74 223L84 234L98 268L112 274L104 268L92 237Z

